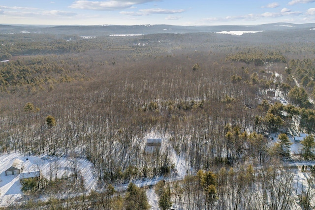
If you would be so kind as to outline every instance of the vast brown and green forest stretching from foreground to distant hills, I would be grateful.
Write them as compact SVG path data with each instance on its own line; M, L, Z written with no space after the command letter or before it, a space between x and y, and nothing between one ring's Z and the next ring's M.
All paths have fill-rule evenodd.
M283 163L315 158L313 33L0 34L0 153L83 157L99 182L86 192L78 174L26 181L27 201L10 206L150 209L153 189L162 210L296 208L299 168ZM299 133L310 135L293 154ZM152 136L162 148L146 152ZM314 208L307 189L301 209Z

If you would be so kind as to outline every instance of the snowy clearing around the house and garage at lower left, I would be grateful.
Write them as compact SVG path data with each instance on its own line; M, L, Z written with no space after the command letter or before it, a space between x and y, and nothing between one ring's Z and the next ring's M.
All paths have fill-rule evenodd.
M6 207L22 198L20 175L5 176L5 170L11 165L12 159L19 158L24 161L23 172L40 170L41 175L46 179L61 178L72 174L73 166L77 168L85 180L87 191L95 190L97 179L93 174L93 165L83 158L52 157L52 156L21 156L18 153L0 155L0 208ZM52 168L57 168L52 174Z

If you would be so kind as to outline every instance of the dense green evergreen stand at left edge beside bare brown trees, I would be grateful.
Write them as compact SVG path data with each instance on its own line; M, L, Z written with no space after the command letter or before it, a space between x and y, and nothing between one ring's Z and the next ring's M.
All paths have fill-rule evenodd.
M43 91L58 83L86 80L77 62L77 59L59 56L25 57L3 62L0 67L0 91Z

